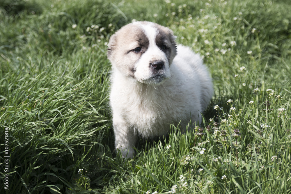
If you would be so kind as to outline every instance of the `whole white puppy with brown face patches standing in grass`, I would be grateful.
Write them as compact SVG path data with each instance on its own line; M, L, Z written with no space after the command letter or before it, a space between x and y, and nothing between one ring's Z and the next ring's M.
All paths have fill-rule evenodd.
M173 32L152 22L133 22L111 36L110 104L115 146L133 157L138 135L168 134L201 115L212 98L212 81L198 54L176 45Z

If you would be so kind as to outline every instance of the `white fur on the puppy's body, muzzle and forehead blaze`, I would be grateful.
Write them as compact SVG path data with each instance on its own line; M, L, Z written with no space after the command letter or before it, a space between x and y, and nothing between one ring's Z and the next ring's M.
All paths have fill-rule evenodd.
M213 93L211 78L198 54L178 45L173 63L167 64L165 54L155 45L154 28L143 24L143 29L150 45L135 66L135 78L125 75L111 60L115 146L123 157L133 157L138 135L162 136L168 133L169 124L180 121L182 127L190 120L201 123L200 112L206 109ZM148 63L153 57L165 61L168 79L159 84L142 83L144 77L150 76Z

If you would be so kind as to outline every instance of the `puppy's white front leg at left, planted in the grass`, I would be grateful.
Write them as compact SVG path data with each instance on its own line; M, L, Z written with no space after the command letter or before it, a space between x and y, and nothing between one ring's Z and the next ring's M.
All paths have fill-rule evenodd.
M123 158L133 158L133 147L137 140L137 134L121 120L113 120L113 128L115 134L115 148L120 149Z

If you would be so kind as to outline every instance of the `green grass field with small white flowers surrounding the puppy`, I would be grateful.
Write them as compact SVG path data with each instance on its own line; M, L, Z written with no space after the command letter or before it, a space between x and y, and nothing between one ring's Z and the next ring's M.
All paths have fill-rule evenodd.
M1 0L0 193L291 193L290 10L288 0ZM122 159L106 45L134 19L199 53L215 95L201 128L171 126Z

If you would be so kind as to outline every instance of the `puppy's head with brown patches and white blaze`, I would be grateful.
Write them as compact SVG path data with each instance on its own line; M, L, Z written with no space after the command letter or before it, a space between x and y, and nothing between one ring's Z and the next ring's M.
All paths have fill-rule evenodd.
M173 32L152 22L133 22L111 36L107 56L114 70L145 84L170 78L177 54Z

